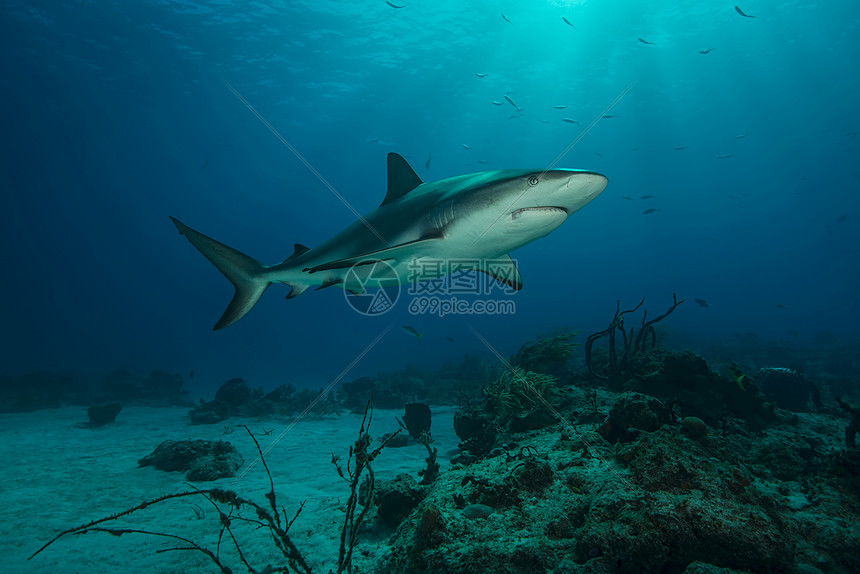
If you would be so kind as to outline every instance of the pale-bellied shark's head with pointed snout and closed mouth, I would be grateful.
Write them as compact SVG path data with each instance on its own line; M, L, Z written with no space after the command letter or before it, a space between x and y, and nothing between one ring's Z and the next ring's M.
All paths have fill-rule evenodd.
M457 234L481 251L500 253L544 237L597 197L608 182L599 173L575 169L505 170L467 177L450 198L455 217L446 235Z

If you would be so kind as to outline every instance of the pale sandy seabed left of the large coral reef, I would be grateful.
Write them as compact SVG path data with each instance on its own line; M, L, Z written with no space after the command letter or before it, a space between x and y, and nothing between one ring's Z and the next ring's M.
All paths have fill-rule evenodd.
M100 428L82 424L87 415L81 407L0 415L0 571L7 574L217 572L215 565L199 552L164 552L176 544L132 534L69 535L27 560L65 529L144 500L190 490L184 473L138 466L138 459L164 440L231 442L245 459L237 476L244 475L238 479L198 482L195 486L229 488L267 506L264 495L269 489L268 478L262 465L252 465L257 453L244 429L232 426L232 432L228 429L225 434L225 424L192 426L187 413L187 408L127 407L115 423ZM443 469L458 442L453 414L453 408L433 410L431 430ZM395 416L399 415L402 411L376 410L371 436L378 438L396 430ZM286 419L225 421L231 425L247 424L258 435L261 447L269 449L266 461L274 478L278 503L291 518L305 501L290 535L316 572L328 572L336 563L349 494L348 483L331 464L332 454L346 461L361 418L344 414L304 419L292 428L289 428L292 421ZM264 427L273 432L263 436ZM393 478L408 473L417 478L418 471L425 467L426 456L424 447L414 441L403 448L386 448L374 463L376 477ZM213 551L219 532L215 509L196 496L156 504L122 522L104 526L177 534ZM243 552L255 567L283 563L262 529L244 524L237 533L241 535ZM360 560L367 563L384 555L386 538L385 533L369 529L360 543ZM234 572L245 571L226 541L221 543L221 554Z

